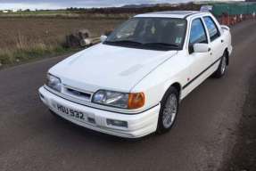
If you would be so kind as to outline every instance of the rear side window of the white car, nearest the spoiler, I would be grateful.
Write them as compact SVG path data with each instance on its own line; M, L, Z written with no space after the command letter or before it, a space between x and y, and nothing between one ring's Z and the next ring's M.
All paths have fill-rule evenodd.
M209 31L211 41L215 40L219 37L219 29L217 28L215 22L211 19L211 17L203 17L205 25Z

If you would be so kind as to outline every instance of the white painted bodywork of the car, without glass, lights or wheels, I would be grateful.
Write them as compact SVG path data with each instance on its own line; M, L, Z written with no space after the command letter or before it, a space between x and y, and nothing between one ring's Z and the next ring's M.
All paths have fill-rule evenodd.
M81 102L50 89L46 90L45 86L39 89L39 93L44 96L44 98L41 96L42 101L51 110L54 110L54 102L58 102L70 109L80 110L93 116L96 120L95 126L67 118L54 110L63 118L96 131L124 137L141 137L153 133L157 128L161 99L169 86L180 85L180 100L182 100L218 69L218 59L226 49L229 54L232 52L229 28L219 26L215 18L213 20L219 28L220 37L211 42L207 32L210 43L194 45L195 53L188 52L191 22L203 16L212 17L206 12L196 12L186 17L186 39L180 51L153 51L98 44L72 55L49 70L49 73L62 79L63 85L91 94L99 89L125 93L144 92L145 106L141 109L121 110L92 102ZM136 17L184 18L185 14L149 13ZM206 27L204 22L203 25ZM211 51L208 51L209 48ZM194 81L191 82L192 80ZM190 84L187 85L188 83ZM119 127L109 127L105 125L106 118L128 121L128 128L123 130Z

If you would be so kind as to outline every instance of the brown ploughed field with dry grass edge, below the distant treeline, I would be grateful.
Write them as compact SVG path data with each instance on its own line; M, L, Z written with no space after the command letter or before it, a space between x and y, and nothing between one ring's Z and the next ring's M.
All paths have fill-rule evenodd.
M106 18L0 17L0 63L13 64L74 51L64 46L67 35L87 28L91 37L99 37L122 21Z

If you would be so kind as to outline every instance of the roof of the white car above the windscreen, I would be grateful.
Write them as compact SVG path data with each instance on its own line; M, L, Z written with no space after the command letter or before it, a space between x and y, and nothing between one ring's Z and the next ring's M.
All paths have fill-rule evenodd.
M166 11L166 12L149 12L138 14L135 17L162 17L162 18L180 18L184 19L188 16L192 16L194 14L199 14L203 12L197 11Z

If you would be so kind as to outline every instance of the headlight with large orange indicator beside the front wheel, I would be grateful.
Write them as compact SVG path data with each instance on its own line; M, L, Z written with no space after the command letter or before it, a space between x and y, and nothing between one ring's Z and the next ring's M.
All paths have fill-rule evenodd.
M99 90L93 96L93 102L122 109L138 109L145 104L145 94L127 94L107 90Z

